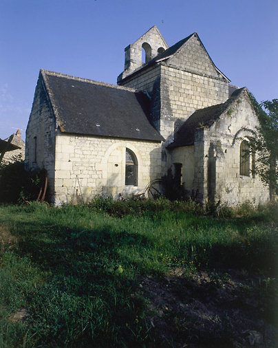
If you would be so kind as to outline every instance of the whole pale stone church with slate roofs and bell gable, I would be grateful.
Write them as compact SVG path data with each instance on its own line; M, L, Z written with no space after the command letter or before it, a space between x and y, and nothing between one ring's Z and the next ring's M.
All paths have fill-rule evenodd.
M257 116L230 82L196 32L168 47L156 26L125 48L117 85L41 69L26 165L45 168L57 205L131 197L169 173L198 202L266 202L248 146Z

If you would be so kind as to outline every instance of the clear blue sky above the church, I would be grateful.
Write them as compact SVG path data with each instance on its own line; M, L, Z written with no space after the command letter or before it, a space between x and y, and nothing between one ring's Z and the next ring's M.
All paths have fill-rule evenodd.
M0 138L25 138L39 69L116 84L153 25L169 46L197 32L233 85L278 98L277 0L0 0Z

